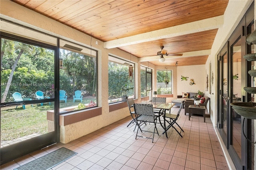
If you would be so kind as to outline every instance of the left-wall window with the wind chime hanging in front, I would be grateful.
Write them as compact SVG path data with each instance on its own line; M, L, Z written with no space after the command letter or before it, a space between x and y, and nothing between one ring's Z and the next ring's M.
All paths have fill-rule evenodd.
M132 76L129 77L129 65ZM108 56L108 103L134 98L134 63Z

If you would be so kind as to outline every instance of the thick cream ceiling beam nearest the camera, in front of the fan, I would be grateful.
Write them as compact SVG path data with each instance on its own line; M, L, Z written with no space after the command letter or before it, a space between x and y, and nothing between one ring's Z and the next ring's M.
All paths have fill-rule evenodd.
M149 42L149 41L154 41L154 40L159 40L164 38L182 36L186 34L202 32L206 30L213 30L216 28L220 28L223 25L224 23L223 18L224 18L223 15L217 16L217 17L208 18L205 20L190 22L187 24L173 26L170 28L164 28L161 30L146 32L146 33L138 34L135 36L130 36L126 38L120 38L118 40L104 42L104 48L111 49L111 48L123 47L126 45Z

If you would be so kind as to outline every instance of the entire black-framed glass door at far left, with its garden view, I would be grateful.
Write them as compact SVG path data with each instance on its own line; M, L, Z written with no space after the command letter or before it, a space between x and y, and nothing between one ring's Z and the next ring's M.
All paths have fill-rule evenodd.
M56 142L56 49L8 35L1 51L2 164Z

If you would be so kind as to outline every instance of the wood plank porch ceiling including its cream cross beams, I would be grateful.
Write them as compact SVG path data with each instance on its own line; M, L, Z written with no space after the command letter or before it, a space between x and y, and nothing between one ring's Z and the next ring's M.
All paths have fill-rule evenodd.
M205 64L228 0L13 0L154 65ZM214 18L215 17L215 18ZM216 18L217 17L217 18ZM212 19L212 20L211 20ZM217 26L218 25L218 26ZM167 30L172 31L165 35ZM184 30L185 29L185 30ZM163 36L165 35L165 36ZM139 37L139 38L138 38ZM145 38L143 38L145 37ZM138 38L138 41L134 41ZM125 43L124 43L125 42ZM109 45L110 44L110 45ZM115 46L111 46L115 44ZM118 44L118 45L116 45ZM164 46L167 53L159 62Z

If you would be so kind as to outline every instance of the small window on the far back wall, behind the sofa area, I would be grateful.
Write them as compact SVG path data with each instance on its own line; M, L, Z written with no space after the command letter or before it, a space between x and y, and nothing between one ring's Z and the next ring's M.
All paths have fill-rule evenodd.
M172 70L157 70L157 94L172 94Z

